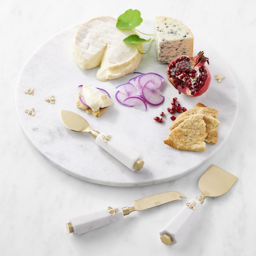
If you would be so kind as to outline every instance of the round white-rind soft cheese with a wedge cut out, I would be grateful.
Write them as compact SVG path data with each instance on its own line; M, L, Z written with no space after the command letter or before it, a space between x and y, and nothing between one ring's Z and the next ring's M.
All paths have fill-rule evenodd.
M72 53L81 69L100 66L97 79L106 81L133 72L139 65L142 44L124 43L123 39L137 33L116 28L117 20L102 16L81 24L72 41Z

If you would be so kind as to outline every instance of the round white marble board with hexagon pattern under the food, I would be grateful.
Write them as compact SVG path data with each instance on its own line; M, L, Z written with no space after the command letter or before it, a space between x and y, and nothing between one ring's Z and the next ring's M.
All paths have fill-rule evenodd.
M115 100L115 87L126 83L136 74L102 82L96 79L98 67L81 70L71 53L71 40L79 25L57 33L42 44L23 67L16 89L16 109L21 127L37 150L62 171L85 180L111 186L144 186L175 180L193 171L206 162L228 138L238 112L238 91L233 75L225 61L203 41L194 40L194 55L204 50L210 60L212 82L202 96L189 97L178 94L166 78L167 65L156 58L154 44L144 54L136 72L156 72L164 76L161 88L165 101L160 106L148 106L147 111L125 107ZM154 21L144 20L138 28L154 34ZM145 46L145 49L148 45ZM215 75L223 75L221 83ZM96 118L76 107L78 85L88 84L105 89L114 100L107 111ZM34 93L24 93L33 87ZM55 97L55 103L46 101ZM206 151L190 152L173 149L163 143L172 124L171 106L173 97L186 109L198 102L219 110L219 141L206 145ZM34 115L26 110L34 108ZM132 172L105 150L99 147L88 133L68 130L61 121L60 110L71 110L83 116L91 127L106 132L144 155L145 165ZM163 123L153 118L164 112Z

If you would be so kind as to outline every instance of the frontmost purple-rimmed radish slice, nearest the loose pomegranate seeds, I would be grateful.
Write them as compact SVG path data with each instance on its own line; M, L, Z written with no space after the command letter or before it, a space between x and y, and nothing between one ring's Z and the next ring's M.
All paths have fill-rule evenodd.
M158 106L163 103L164 96L159 89L155 88L155 84L147 82L141 89L144 100L153 106Z

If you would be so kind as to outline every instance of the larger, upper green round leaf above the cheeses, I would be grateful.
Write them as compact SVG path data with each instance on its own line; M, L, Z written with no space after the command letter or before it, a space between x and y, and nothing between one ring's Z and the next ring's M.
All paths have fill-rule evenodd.
M139 10L129 9L117 18L116 28L133 29L141 25L143 19Z

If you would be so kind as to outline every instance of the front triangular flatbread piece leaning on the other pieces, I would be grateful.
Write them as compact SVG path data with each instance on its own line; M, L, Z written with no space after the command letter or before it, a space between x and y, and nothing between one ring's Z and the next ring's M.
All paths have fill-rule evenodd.
M178 150L204 151L206 150L205 132L206 123L203 114L191 115L171 130L164 143Z

